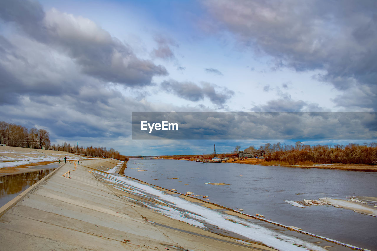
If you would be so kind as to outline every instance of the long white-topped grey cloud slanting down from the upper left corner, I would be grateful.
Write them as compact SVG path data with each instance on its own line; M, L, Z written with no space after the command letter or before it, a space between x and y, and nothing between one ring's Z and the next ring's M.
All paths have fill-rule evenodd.
M0 17L40 43L60 48L82 72L100 80L133 87L149 85L155 75L167 75L165 67L137 58L129 46L87 18L56 9L44 12L37 2L18 0L3 2Z

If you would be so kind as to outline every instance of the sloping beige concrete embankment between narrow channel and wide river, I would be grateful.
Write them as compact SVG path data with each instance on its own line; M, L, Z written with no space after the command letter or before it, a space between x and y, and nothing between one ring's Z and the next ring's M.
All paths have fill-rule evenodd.
M1 208L0 250L276 250L219 228L217 233L206 231L150 209L146 202L153 197L138 195L139 191L110 179L120 176L107 173L119 169L115 168L119 163L114 159L85 160L73 171L73 162L67 162L26 190L18 201ZM62 176L67 171L69 179ZM172 191L164 193L174 196ZM158 201L161 208L166 207ZM303 235L272 228L291 232L291 236ZM305 238L319 245L315 250L349 250L322 239Z

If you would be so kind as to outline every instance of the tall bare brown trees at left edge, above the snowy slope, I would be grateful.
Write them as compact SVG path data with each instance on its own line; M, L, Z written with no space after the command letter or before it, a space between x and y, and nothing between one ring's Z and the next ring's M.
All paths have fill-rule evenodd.
M0 121L0 144L48 149L50 147L49 137L49 132L44 129L28 129L20 125Z

